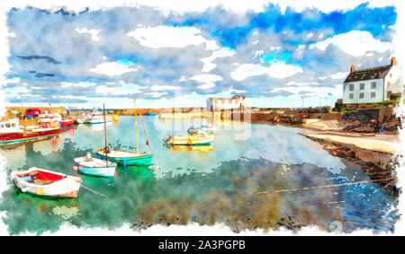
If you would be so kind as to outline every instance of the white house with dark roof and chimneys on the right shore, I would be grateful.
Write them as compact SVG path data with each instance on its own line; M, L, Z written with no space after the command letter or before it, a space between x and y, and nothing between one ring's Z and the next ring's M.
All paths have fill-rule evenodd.
M350 67L350 74L343 83L343 103L370 103L389 101L393 93L403 92L400 69L395 57L391 65L356 70Z

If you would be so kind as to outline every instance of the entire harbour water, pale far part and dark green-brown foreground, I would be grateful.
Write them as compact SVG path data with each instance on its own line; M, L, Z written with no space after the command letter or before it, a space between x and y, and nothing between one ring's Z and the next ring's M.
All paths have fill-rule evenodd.
M169 132L185 134L190 120L143 118L155 154L152 164L119 168L114 179L81 175L96 193L80 188L77 199L44 199L17 191L8 178L0 211L6 212L9 232L55 232L64 222L143 228L189 221L226 223L238 232L276 229L289 218L324 230L389 232L398 220L395 203L374 183L311 188L368 178L358 166L300 136L300 128L220 122L211 146L174 148L162 139ZM139 150L148 152L140 121L138 127ZM107 136L112 148L133 150L134 118L108 124ZM94 154L103 142L103 125L79 125L57 138L3 149L3 170L8 175L36 166L74 174L73 159Z

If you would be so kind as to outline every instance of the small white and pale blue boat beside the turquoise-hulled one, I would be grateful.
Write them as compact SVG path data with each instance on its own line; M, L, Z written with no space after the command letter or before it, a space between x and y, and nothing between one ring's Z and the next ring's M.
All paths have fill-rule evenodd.
M115 168L117 167L117 163L92 158L90 153L87 153L84 157L75 158L74 161L76 163L76 165L73 167L74 171L81 171L87 175L107 178L112 178L115 176Z

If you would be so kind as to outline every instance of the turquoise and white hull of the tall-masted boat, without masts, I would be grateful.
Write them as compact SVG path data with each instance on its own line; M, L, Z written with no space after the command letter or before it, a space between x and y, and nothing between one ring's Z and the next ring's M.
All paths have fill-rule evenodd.
M141 153L141 154L136 154L133 153L131 155L131 152L126 152L126 151L117 151L117 150L112 150L111 152L123 152L123 153L128 153L127 156L113 156L112 153L108 153L108 160L111 162L119 163L123 166L127 165L145 165L148 166L150 162L153 159L153 154L151 153ZM105 160L105 154L103 153L103 150L100 149L97 152L97 156L100 159Z

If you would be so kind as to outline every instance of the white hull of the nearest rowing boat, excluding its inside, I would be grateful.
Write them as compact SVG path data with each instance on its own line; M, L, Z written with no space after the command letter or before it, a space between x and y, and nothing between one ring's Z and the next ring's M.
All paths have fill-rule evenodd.
M57 180L52 181L49 184L34 184L27 180L23 180L22 175L29 175L35 171L40 171L48 178L54 178ZM37 168L31 168L28 171L11 173L14 185L23 192L33 194L40 197L67 197L76 198L82 180L74 176L68 176L62 173L41 170Z

